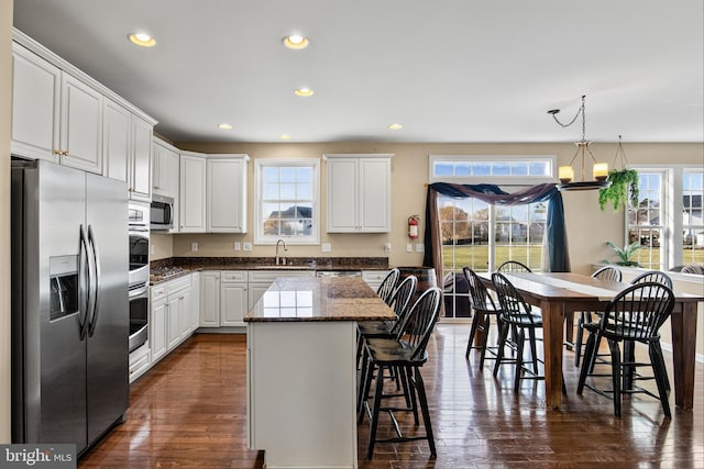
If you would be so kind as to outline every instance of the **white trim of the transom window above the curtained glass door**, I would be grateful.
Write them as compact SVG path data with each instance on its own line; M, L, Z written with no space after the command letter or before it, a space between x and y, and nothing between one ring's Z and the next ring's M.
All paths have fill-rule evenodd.
M438 161L544 161L548 163L552 172L550 176L433 176L432 167ZM463 185L492 183L496 186L515 186L516 179L520 178L520 186L534 186L544 182L558 182L557 175L558 157L556 155L428 155L428 181L454 182Z

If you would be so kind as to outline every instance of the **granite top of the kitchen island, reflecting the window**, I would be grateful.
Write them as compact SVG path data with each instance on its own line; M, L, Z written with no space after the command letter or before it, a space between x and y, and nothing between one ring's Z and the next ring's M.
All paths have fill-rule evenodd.
M389 321L394 311L359 277L278 278L245 322Z

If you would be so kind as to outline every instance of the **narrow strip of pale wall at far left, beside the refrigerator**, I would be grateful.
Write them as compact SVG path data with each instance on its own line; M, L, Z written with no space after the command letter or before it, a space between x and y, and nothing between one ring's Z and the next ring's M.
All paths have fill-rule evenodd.
M12 0L0 0L0 443L10 443L10 132Z

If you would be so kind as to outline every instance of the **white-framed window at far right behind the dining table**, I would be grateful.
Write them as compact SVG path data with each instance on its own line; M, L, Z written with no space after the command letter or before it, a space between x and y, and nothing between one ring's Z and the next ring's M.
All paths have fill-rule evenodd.
M704 171L701 168L637 168L638 205L627 210L628 242L639 242L635 260L668 270L704 263Z

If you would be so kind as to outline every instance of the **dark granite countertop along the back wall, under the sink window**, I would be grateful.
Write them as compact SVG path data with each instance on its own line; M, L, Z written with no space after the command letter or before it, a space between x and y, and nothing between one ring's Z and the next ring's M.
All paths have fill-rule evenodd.
M201 270L387 270L388 257L292 257L276 266L273 257L172 257L150 263L150 284Z

